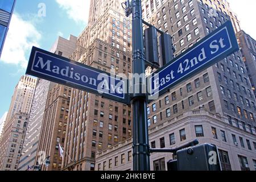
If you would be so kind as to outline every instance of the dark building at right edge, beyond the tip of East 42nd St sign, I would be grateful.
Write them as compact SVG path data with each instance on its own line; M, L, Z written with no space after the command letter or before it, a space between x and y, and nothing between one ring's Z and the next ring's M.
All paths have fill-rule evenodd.
M249 74L251 86L253 86L254 96L256 97L256 40L241 30L237 33L237 39L241 48L243 62Z

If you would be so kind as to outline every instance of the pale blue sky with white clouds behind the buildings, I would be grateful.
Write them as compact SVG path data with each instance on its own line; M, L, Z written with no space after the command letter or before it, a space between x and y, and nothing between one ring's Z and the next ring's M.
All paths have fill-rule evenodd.
M256 39L255 0L229 0L241 27ZM24 75L31 47L49 50L58 36L79 36L88 22L90 0L17 0L0 60L0 118Z

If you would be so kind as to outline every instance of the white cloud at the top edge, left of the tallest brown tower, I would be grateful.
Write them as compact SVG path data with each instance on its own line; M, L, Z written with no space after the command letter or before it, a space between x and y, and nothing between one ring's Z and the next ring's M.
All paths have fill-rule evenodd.
M55 0L76 23L88 22L90 0Z

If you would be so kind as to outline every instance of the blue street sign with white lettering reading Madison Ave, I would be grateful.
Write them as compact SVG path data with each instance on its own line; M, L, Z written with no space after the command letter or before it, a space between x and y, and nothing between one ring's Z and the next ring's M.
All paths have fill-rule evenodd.
M43 49L32 48L26 74L130 104L125 78L112 76Z

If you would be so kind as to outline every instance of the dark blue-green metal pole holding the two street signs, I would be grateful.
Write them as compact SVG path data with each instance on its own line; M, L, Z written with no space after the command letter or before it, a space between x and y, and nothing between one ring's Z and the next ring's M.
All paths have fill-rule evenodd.
M133 74L145 75L145 55L142 29L141 0L132 0L133 4ZM144 79L144 78L143 78ZM145 78L146 79L146 78ZM146 115L146 93L143 81L133 85L133 169L150 171L150 146L148 142L148 125ZM139 93L138 93L139 90Z

